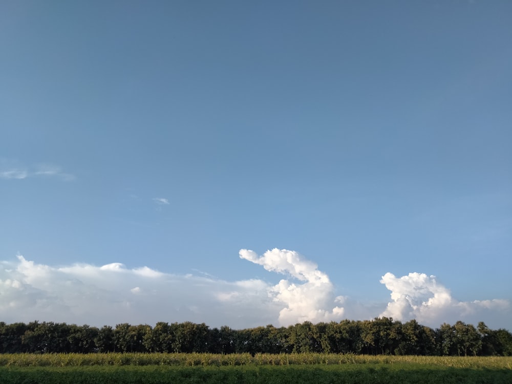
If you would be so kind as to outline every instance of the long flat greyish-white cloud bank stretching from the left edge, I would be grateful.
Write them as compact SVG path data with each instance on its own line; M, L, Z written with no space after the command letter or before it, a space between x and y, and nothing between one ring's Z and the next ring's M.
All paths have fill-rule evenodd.
M227 282L121 263L51 267L18 256L0 263L0 317L5 322L193 321L245 328L278 317L280 307L267 289L261 280Z

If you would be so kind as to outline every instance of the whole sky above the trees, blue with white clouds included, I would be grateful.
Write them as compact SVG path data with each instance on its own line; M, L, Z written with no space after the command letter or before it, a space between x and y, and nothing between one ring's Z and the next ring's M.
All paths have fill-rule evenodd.
M512 329L511 13L3 2L0 315ZM301 294L283 297L282 279ZM432 304L439 287L450 300ZM112 313L78 313L98 290Z

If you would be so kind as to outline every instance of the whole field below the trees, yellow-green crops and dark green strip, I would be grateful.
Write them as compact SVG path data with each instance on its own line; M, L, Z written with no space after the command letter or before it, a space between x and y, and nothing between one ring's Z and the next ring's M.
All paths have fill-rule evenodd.
M2 384L512 383L512 357L5 354Z

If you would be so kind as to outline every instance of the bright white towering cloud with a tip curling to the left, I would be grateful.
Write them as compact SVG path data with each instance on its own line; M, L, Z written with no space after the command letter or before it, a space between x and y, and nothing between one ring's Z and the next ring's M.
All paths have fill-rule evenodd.
M288 274L303 282L296 284L283 279L269 287L268 292L273 301L285 305L279 312L280 325L305 321L339 321L343 318L343 307L333 306L335 301L340 302L342 298L334 297L334 287L329 276L301 254L274 248L259 257L251 250L242 249L240 258L262 265L267 271Z

